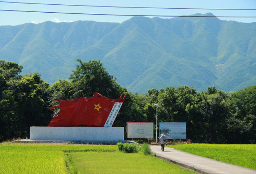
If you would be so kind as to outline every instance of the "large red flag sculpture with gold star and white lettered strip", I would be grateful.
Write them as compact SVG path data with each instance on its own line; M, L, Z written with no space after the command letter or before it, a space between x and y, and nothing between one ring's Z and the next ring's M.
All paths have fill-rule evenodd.
M53 117L48 126L50 127L75 127L77 125L87 125L89 127L112 127L117 113L124 102L122 95L119 99L110 99L99 93L94 93L93 97L80 97L73 100L59 100L60 106L50 107L60 108L59 114Z

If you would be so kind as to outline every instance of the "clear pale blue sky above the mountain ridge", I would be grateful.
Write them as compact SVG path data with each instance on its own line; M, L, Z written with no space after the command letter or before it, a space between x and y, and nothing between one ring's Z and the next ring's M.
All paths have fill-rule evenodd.
M5 0L8 2L32 2L43 4L74 4L91 6L129 6L158 8L228 8L256 9L256 0ZM213 13L215 16L256 16L256 10L200 10L200 9L140 9L140 8L100 8L75 6L50 6L32 4L13 4L0 2L0 9L26 11L53 11L65 13L97 13L125 15L192 15ZM23 23L98 21L122 23L131 16L74 15L56 13L29 13L0 11L0 26L20 25ZM167 17L162 17L167 18ZM170 17L169 17L170 18ZM256 22L256 18L219 18L226 21L245 23Z

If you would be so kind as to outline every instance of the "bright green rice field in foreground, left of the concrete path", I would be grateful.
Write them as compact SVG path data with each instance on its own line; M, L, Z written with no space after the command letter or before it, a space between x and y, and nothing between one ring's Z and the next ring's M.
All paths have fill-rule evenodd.
M117 146L0 144L0 174L192 174L180 166Z

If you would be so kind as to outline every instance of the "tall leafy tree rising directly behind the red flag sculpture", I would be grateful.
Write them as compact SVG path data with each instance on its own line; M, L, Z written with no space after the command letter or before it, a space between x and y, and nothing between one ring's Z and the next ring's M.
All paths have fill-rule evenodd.
M105 71L100 61L77 61L80 65L77 65L76 70L71 74L71 81L59 79L50 88L52 93L50 106L59 105L58 102L54 101L55 98L67 100L82 96L91 97L94 93L100 93L108 98L119 98L122 93L127 93L127 89L118 85L113 75L109 75ZM135 97L132 93L126 95L126 99L114 122L114 127L125 127L127 121L139 120L139 118L143 117L143 112L134 104L134 99ZM59 111L55 110L54 112L54 115L57 115Z

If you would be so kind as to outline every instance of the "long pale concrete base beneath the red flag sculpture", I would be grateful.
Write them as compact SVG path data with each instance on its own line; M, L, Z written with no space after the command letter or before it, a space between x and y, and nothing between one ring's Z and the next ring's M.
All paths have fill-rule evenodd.
M124 141L123 127L30 127L30 141L111 143Z

